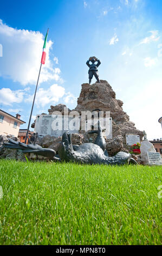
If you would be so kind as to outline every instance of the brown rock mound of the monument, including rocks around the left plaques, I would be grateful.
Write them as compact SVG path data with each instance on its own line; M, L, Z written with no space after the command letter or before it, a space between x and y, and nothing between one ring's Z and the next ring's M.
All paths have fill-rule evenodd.
M122 109L123 102L116 99L115 92L106 80L101 80L100 83L96 82L92 85L83 83L81 87L80 96L77 99L77 106L73 111L77 111L80 114L82 111L93 112L94 109L110 112L110 117L112 118L112 137L106 138L106 149L109 156L113 156L119 151L128 153L131 148L131 145L128 145L126 141L128 137L137 137L138 141L142 141L144 132L137 130L135 124L129 120L129 116ZM66 114L72 112L72 110L63 104L51 105L48 112L49 115L52 115L56 111L59 111L64 115L65 108ZM32 124L32 127L34 126L35 123ZM94 143L96 137L97 134L90 134L88 131L85 132L80 129L79 132L75 132L72 135L72 143L77 145L87 142ZM60 141L61 137L55 138L54 136L46 135L43 138L38 138L36 143L40 144L41 147L49 147L57 152L57 146Z

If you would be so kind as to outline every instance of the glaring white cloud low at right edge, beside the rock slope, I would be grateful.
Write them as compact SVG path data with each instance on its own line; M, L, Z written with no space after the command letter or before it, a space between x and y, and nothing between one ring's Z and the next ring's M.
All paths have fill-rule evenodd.
M161 125L158 123L158 119L161 117L161 108L158 102L161 102L161 83L162 80L156 80L153 78L150 81L144 82L144 86L140 87L137 94L125 102L127 106L130 106L132 102L138 100L137 107L132 108L128 113L131 120L135 123L135 126L147 133L147 139L154 139L161 137ZM153 89L155 88L155 89ZM140 114L138 114L140 112Z

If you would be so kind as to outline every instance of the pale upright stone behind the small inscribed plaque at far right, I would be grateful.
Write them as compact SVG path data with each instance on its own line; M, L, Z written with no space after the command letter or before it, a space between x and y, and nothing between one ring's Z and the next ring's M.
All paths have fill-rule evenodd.
M147 141L147 139L141 142L140 151L141 151L141 161L144 163L148 163L147 152L156 153L156 150L154 149L153 144Z

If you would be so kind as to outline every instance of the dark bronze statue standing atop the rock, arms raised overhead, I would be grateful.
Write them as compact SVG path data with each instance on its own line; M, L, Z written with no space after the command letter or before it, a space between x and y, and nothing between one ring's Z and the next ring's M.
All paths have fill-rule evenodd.
M89 62L92 62L92 64L89 64ZM95 62L98 62L95 64ZM91 83L91 80L93 78L93 75L95 76L98 83L100 83L99 75L98 75L98 66L101 64L100 60L96 58L95 56L90 57L89 60L86 62L87 66L89 67L88 74L89 74L89 84Z

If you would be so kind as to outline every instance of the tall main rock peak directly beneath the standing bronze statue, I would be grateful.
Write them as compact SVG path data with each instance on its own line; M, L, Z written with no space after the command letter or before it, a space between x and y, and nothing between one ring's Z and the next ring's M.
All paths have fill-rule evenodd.
M83 83L81 93L77 99L76 111L93 111L99 108L100 111L109 111L112 117L112 135L111 139L106 139L107 151L109 155L119 151L128 152L126 135L139 135L142 141L143 132L136 129L135 124L129 120L129 116L122 109L123 102L116 99L115 92L106 80L100 80L100 83L89 85ZM86 141L87 136L85 136ZM95 140L95 138L94 138Z

